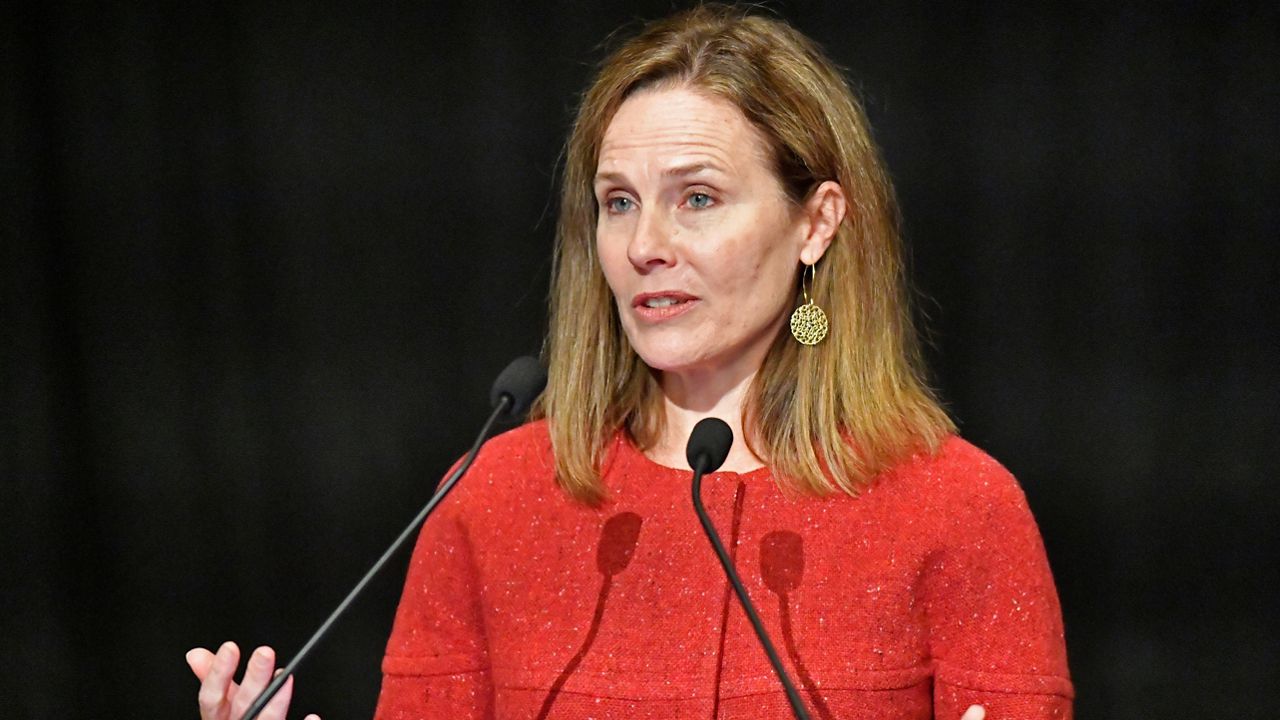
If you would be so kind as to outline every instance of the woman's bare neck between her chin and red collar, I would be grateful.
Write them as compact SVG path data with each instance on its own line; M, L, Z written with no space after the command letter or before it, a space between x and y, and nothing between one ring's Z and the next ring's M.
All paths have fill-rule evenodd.
M663 373L662 387L666 423L658 445L648 455L655 462L669 468L687 465L685 446L689 433L703 418L719 418L733 430L733 446L719 468L731 473L746 473L764 465L753 454L742 432L742 407L755 373L740 377L723 373Z

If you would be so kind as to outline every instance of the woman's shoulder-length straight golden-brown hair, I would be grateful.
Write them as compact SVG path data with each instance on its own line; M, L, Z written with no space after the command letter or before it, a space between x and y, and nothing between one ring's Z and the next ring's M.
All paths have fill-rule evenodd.
M924 380L905 290L897 204L861 106L822 50L786 23L699 6L646 26L604 60L566 147L544 347L547 418L557 478L584 502L604 497L600 466L626 429L652 447L663 424L658 382L631 348L595 250L593 178L618 106L655 85L728 100L769 143L792 202L823 181L849 213L815 268L813 296L831 322L801 346L786 325L744 407L746 442L782 486L856 493L877 473L954 430ZM796 268L800 295L800 268Z

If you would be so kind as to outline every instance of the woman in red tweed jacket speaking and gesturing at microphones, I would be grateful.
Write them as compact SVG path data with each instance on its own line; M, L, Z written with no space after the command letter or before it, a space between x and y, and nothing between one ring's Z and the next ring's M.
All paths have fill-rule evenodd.
M376 717L788 717L689 503L709 415L739 441L704 498L815 717L1070 716L1034 521L923 382L892 191L817 46L646 27L584 97L557 234L549 386L425 525ZM189 661L207 719L273 665L234 692L233 647Z

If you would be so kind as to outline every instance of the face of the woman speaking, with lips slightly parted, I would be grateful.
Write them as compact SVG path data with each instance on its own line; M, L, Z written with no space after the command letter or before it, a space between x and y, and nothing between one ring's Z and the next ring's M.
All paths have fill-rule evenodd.
M759 368L809 222L742 113L685 87L632 95L604 132L595 200L600 265L640 357L664 373Z

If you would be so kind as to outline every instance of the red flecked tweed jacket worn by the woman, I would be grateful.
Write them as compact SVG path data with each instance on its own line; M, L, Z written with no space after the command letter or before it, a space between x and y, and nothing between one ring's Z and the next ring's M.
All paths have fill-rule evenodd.
M426 523L378 720L791 717L689 470L620 436L598 509L553 471L545 425L517 428ZM1071 716L1036 523L965 441L859 497L788 496L760 469L708 475L703 498L813 717Z

